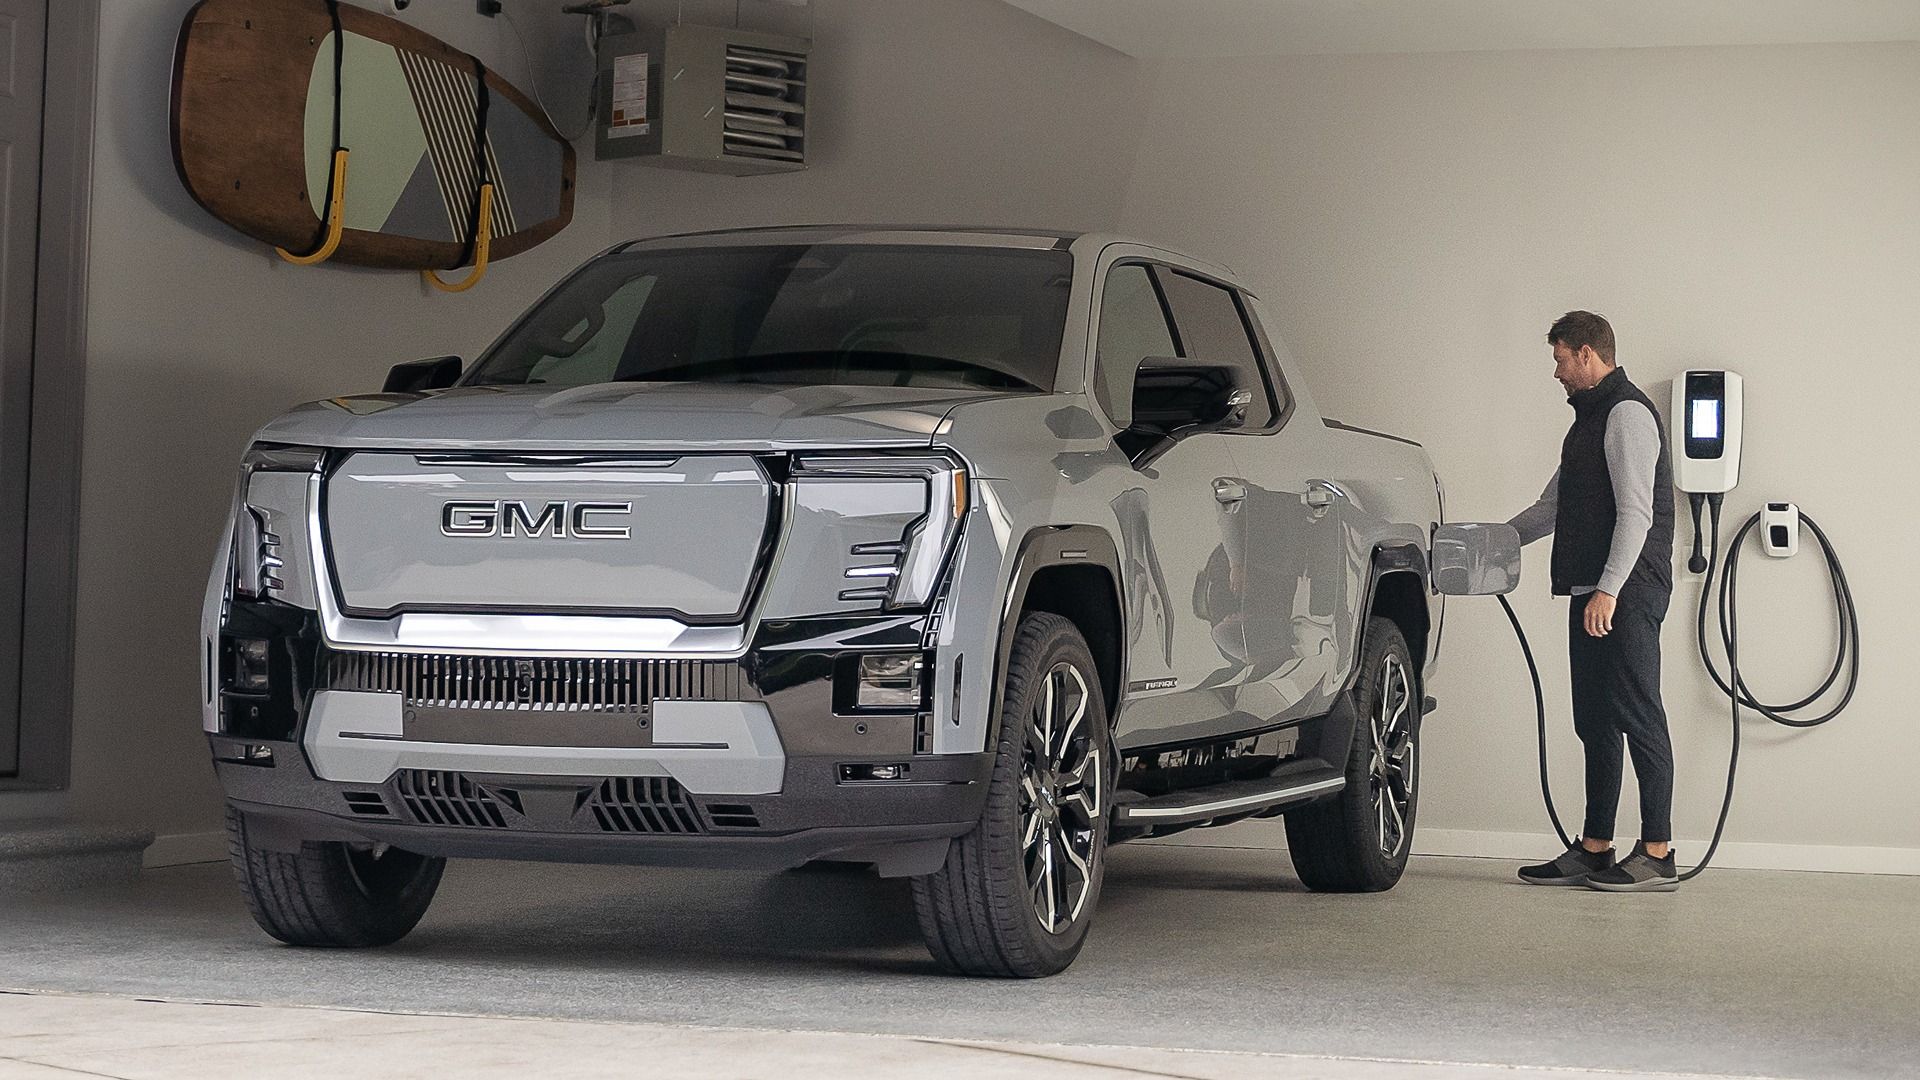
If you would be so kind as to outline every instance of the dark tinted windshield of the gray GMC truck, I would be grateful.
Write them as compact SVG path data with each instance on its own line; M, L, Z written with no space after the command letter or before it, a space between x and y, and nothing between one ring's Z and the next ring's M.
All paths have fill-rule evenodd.
M797 382L1052 390L1066 252L801 244L588 263L467 386Z

